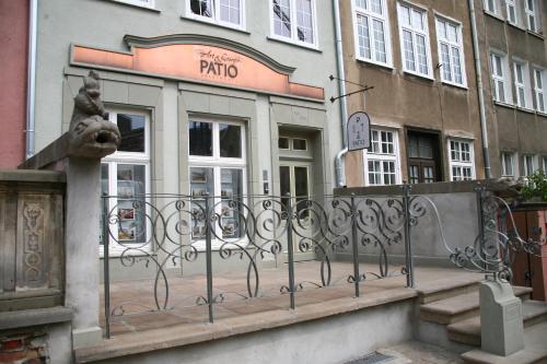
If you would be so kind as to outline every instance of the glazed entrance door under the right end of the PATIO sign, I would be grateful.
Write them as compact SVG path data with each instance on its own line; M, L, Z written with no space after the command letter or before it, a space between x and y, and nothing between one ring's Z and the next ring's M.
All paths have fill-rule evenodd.
M306 211L305 204L305 201L312 196L311 176L312 163L310 162L279 162L279 191L281 193L281 202L283 206L287 206L289 203L289 198L286 196L290 193L292 197L292 209L296 212L298 216L298 220L293 220L293 223L296 224L294 227L296 232L292 234L295 260L311 260L315 257L314 251L311 249L311 245L309 245L311 242L305 239L305 236L312 235L309 221L310 213Z

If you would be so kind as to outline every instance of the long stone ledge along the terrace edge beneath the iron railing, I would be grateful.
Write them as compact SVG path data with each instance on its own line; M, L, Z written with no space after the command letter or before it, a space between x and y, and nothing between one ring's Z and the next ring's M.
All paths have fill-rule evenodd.
M294 310L277 309L219 319L214 324L177 325L162 329L120 334L109 340L104 340L96 347L75 350L75 361L77 363L90 363L156 350L179 348L236 334L317 320L334 315L359 312L416 297L417 292L415 290L394 289L371 293L359 298L339 298L319 304L303 305Z

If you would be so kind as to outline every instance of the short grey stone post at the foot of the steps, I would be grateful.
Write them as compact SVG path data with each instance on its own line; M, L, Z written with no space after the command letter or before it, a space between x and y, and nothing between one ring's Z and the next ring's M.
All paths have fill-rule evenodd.
M479 294L482 351L508 356L524 349L522 303L511 284L484 281Z

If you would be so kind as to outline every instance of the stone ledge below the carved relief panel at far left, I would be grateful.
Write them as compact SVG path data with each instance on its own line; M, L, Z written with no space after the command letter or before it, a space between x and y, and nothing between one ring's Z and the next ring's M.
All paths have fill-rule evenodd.
M51 307L0 313L0 330L66 322L72 319L72 308Z

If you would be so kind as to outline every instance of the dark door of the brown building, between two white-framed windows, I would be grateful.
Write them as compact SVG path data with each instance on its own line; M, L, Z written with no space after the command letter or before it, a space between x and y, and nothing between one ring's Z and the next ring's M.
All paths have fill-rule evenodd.
M431 184L441 180L439 136L408 131L408 180L410 184Z

